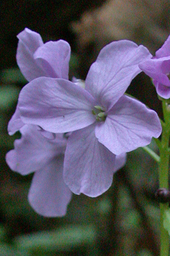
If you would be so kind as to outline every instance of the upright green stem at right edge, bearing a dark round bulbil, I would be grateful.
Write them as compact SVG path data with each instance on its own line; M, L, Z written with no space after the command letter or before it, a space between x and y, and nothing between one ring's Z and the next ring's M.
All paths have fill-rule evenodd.
M163 117L165 123L163 123L161 145L159 146L160 161L159 164L159 187L169 189L169 129L170 129L170 118L169 110L167 108L166 100L162 100L163 105ZM160 225L161 225L161 252L160 256L169 256L169 234L168 231L163 227L163 215L168 209L169 204L160 204Z

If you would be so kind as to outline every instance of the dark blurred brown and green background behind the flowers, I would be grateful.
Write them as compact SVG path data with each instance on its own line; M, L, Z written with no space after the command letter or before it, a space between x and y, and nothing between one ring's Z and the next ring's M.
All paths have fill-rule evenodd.
M15 59L17 34L25 27L40 33L44 42L68 41L70 79L73 74L85 79L100 49L111 41L129 39L154 55L169 36L169 15L165 0L0 1L0 255L158 255L157 166L142 149L128 154L127 165L101 197L75 195L64 218L33 212L27 203L32 175L9 170L5 154L20 136L10 137L7 123L27 83ZM161 117L161 103L145 74L137 75L128 93Z

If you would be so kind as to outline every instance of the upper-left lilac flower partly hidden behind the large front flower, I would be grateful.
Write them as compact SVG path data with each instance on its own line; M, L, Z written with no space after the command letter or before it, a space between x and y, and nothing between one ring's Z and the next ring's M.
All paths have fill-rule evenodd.
M68 79L70 46L66 41L49 41L43 44L38 33L25 28L17 38L17 65L28 81L41 76ZM18 106L9 121L8 131L12 135L24 125Z

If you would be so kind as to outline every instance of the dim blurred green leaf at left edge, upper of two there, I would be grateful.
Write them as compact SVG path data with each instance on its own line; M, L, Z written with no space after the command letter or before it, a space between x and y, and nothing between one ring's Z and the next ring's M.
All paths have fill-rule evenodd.
M17 67L2 70L1 81L2 83L27 83L27 80Z

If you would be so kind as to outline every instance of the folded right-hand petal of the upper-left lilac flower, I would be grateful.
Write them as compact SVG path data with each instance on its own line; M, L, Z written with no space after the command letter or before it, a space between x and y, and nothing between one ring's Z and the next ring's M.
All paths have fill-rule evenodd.
M35 51L34 58L42 70L43 76L69 79L70 46L66 41L49 41Z

